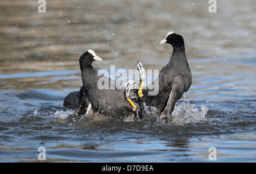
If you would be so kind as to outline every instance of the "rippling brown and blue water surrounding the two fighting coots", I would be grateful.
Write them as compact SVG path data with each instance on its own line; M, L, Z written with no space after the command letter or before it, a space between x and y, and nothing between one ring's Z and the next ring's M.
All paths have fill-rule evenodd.
M5 1L1 5L0 161L256 161L254 1ZM79 57L93 49L97 69L161 69L168 31L183 35L193 75L174 122L101 114L71 122L62 106L79 90Z

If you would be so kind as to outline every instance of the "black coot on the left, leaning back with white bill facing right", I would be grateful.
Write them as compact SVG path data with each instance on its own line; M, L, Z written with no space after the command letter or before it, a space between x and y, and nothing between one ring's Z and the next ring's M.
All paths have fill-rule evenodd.
M85 114L85 111L88 113L88 110L91 109L94 112L100 112L108 116L135 115L135 109L125 97L125 90L112 78L98 73L92 67L95 60L102 61L92 49L89 49L80 57L82 88L79 92L79 108L76 113L82 115ZM99 81L108 82L109 89L102 89L98 85ZM139 107L138 103L132 105L135 108Z

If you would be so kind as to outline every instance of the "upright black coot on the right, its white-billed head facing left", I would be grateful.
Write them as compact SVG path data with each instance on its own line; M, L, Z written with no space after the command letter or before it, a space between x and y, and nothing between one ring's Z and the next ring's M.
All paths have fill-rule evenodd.
M147 105L154 106L162 112L160 118L171 122L171 113L176 101L192 84L192 74L185 55L183 37L174 32L168 32L166 38L160 42L160 44L163 43L171 44L174 48L171 59L161 69L159 77L143 90L143 95L147 98L145 101ZM156 95L150 95L155 85L158 85L159 92Z

